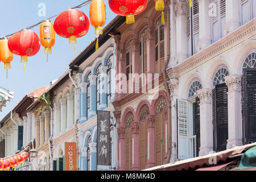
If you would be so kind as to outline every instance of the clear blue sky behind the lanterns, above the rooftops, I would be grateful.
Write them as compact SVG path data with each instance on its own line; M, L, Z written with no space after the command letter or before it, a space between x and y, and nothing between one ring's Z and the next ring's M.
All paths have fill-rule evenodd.
M59 14L64 10L76 5L80 5L86 0L8 0L2 5L0 11L0 37L12 34L32 24L47 19L53 15ZM106 5L106 24L116 16L110 9L108 1L104 0ZM46 4L46 17L38 15L39 3ZM89 18L89 5L80 8ZM52 19L53 23L55 19ZM32 28L39 36L39 27ZM49 85L49 82L59 78L68 64L76 57L82 49L84 49L95 38L94 27L90 25L88 34L77 39L76 53L73 54L73 45L68 44L68 39L61 38L56 35L56 43L52 48L52 55L49 55L48 63L46 63L46 55L44 55L44 47L41 46L37 55L28 57L26 64L26 73L23 72L23 64L20 63L20 56L14 55L11 63L9 77L6 79L6 71L3 63L0 63L0 86L14 93L14 99L7 102L7 106L3 107L0 112L0 121L8 114L16 104L27 94L42 86Z

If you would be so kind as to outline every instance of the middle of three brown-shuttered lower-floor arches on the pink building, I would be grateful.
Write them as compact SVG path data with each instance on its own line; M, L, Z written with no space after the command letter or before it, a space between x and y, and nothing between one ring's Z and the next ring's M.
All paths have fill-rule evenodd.
M146 168L147 162L147 121L146 115L148 115L149 109L144 106L141 115L139 117L139 169Z

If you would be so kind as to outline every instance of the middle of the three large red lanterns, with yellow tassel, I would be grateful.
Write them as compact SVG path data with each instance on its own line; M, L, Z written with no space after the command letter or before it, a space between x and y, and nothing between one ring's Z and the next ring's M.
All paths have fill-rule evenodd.
M69 44L75 44L75 53L76 38L81 38L87 34L90 23L88 17L82 11L69 9L57 16L53 27L56 34L68 38Z

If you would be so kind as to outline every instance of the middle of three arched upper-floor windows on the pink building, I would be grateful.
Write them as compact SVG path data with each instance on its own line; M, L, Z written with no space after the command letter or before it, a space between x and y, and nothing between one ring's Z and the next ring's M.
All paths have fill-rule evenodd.
M140 34L140 42L139 42L139 73L143 74L142 78L140 78L141 85L145 83L144 74L147 73L147 42L146 42L146 28L143 28Z

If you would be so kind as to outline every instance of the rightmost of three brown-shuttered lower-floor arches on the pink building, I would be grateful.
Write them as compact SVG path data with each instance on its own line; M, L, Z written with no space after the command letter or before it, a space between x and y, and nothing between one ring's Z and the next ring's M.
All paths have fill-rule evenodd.
M166 107L166 100L161 98L155 111L155 166L162 165L164 161L164 121L167 119L164 108Z

